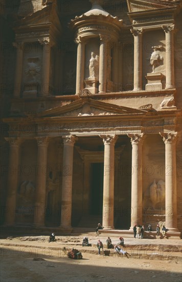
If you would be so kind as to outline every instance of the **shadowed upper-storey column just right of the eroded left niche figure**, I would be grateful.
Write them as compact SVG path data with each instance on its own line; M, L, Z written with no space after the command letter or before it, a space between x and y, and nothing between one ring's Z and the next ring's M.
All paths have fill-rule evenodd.
M42 83L41 83L41 96L50 95L50 63L51 63L51 47L52 44L48 39L40 39L39 43L43 45L42 56Z

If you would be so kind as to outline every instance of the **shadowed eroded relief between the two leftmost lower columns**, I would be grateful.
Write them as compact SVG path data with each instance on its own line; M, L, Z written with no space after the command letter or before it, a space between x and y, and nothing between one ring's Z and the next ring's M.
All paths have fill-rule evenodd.
M29 181L24 181L21 183L18 194L18 207L34 205L35 197L35 186Z

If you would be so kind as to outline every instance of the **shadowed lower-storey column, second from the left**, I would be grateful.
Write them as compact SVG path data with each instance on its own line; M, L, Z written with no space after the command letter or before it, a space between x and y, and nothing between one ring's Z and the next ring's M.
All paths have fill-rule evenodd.
M34 225L44 226L48 137L36 137L36 139L38 145L38 152L37 152L37 176L36 176L36 189L35 189Z

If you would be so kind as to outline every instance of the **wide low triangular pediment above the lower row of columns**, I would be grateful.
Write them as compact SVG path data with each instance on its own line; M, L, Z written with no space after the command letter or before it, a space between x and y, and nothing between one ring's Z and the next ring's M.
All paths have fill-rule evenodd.
M106 102L94 100L92 98L80 98L70 104L58 106L49 110L42 111L35 118L42 117L72 117L72 116L99 116L99 115L118 115L118 114L145 114L146 110L133 109L118 106Z

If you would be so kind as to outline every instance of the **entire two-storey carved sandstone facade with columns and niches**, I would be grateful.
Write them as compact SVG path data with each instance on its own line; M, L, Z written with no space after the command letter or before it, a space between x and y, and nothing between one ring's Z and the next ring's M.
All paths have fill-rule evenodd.
M182 228L181 2L111 2L4 8L4 225Z

